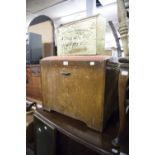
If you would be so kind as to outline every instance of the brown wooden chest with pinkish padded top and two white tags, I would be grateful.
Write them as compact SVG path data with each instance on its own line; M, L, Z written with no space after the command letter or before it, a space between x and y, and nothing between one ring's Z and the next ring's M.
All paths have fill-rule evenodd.
M102 132L117 102L117 72L105 56L52 56L41 60L43 108Z

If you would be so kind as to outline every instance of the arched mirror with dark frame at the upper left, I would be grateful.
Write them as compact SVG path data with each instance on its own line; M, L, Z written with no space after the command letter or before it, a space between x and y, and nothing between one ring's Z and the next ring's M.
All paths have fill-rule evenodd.
M42 57L56 55L54 43L54 25L53 21L48 16L41 15L34 18L28 27L28 34L36 34L35 38L34 35L33 38L31 37L32 46L33 49L42 48ZM40 35L41 42L40 37L37 37L37 35ZM42 46L40 44L42 44Z

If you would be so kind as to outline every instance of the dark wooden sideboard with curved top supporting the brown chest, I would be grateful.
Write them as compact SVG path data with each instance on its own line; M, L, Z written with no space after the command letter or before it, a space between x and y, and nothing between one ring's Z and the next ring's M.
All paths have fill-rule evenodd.
M54 111L37 109L34 113L34 128L37 155L129 154L128 140L119 148L114 148L111 143L118 132L117 115L109 120L103 133L100 133L78 120Z

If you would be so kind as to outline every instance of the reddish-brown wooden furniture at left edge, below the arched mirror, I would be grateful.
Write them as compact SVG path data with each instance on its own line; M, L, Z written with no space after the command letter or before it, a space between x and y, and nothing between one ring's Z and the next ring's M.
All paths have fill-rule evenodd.
M40 65L26 65L26 97L42 101Z

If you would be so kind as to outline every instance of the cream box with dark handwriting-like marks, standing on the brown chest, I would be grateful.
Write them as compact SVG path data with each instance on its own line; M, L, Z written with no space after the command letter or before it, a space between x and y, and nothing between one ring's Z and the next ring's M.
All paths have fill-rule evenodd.
M74 21L57 29L58 55L104 53L105 19L101 15Z

